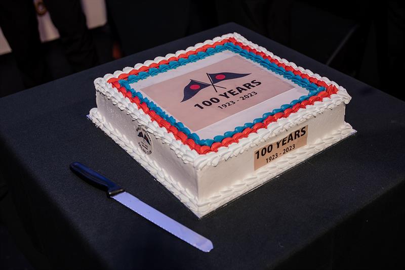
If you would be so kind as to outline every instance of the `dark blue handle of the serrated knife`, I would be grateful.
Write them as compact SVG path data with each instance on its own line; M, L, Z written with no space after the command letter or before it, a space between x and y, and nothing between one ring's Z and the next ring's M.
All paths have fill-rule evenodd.
M123 188L112 182L110 179L104 177L100 173L92 170L91 168L83 165L80 162L71 163L70 169L90 185L106 191L108 197L117 195L125 191Z

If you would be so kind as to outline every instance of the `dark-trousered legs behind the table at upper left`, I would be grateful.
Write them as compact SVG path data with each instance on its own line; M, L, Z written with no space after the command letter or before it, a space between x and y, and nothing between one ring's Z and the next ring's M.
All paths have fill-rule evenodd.
M74 72L98 64L98 56L87 29L79 0L44 0L60 34L67 60ZM0 27L10 44L25 87L51 80L39 40L38 22L32 0L0 1Z

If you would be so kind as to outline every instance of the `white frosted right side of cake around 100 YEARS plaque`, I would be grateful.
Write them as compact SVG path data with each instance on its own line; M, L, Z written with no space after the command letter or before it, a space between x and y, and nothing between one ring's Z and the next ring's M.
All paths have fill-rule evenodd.
M333 110L327 109L316 117L294 125L278 136L262 140L256 147L251 147L236 157L230 157L226 161L221 160L217 166L206 166L198 171L198 198L203 205L210 202L210 206L200 209L210 212L222 204L239 196L240 191L246 193L249 190L263 184L268 179L304 161L322 149L332 145L335 140L343 139L343 136L334 136L340 130L351 129L344 122L345 104L342 103ZM301 130L307 126L306 145L277 157L267 165L255 170L255 152L270 143L280 142L282 151L282 139L291 132ZM353 130L354 131L354 130ZM335 138L336 137L336 138ZM290 144L291 145L291 144ZM317 149L317 145L319 145ZM319 150L319 151L318 151ZM237 195L239 194L239 195ZM207 209L206 209L207 208Z

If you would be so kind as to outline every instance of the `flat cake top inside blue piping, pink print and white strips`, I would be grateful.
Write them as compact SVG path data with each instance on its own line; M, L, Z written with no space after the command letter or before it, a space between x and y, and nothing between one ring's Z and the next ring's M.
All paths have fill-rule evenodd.
M234 131L309 92L228 50L130 87L203 140Z

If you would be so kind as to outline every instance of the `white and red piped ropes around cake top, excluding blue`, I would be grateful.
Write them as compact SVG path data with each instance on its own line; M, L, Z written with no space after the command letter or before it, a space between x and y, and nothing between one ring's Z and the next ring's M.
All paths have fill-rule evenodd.
M272 63L281 65L286 70L293 69L294 74L297 73L300 76L307 78L310 82L319 85L326 85L327 91L319 93L316 97L312 97L312 100L310 98L309 100L304 101L303 104L301 104L301 107L297 106L294 108L293 106L293 108L289 108L284 112L270 116L267 123L267 119L264 121L264 123L268 124L267 127L260 126L263 125L262 123L257 123L256 126L254 126L255 132L252 132L252 129L247 128L244 132L235 134L235 138L225 138L223 140L223 145L214 143L211 148L208 146L200 146L197 151L190 146L190 144L192 144L192 142L190 142L191 139L187 139L184 133L181 134L182 132L178 132L177 128L174 126L166 126L165 123L157 121L158 119L156 118L158 117L156 114L152 114L152 118L147 114L147 108L143 108L142 104L137 105L136 103L133 103L128 97L129 95L124 96L123 93L119 92L119 88L116 88L113 85L118 83L117 80L123 79L125 76L128 77L131 74L137 74L140 71L147 70L149 67L156 67L161 63L165 63L165 61L167 63L167 61L170 61L171 59L173 60L174 57L186 57L187 53L190 54L190 52L203 50L201 49L202 47L213 46L216 42L220 42L220 40L227 38L234 38L237 42L242 44L242 49L254 48L253 50L258 54L270 57ZM112 83L107 82L111 81L111 79ZM127 67L124 68L123 71L116 71L114 74L106 74L103 78L97 78L95 80L95 86L97 91L106 95L107 98L112 99L114 105L118 105L121 110L126 110L127 114L131 114L140 124L145 125L148 131L153 133L156 138L163 138L164 143L170 144L170 148L175 151L176 155L181 158L183 162L192 162L193 166L197 169L202 169L207 165L216 166L222 159L227 160L231 156L237 156L245 150L254 147L271 137L277 136L277 134L284 132L287 128L322 113L326 108L333 109L342 102L347 104L351 99L347 94L346 89L336 84L336 82L330 81L326 77L320 77L318 74L314 74L310 70L297 67L297 65L288 62L285 59L280 59L263 47L257 46L257 44L246 40L237 33L226 34L222 37L216 37L213 40L207 40L204 43L198 43L195 47L187 48L186 51L178 51L176 54L168 54L166 57L157 57L154 61L148 60L144 64L135 65L134 68ZM125 87L123 88L125 89ZM129 94L132 95L132 93ZM167 124L170 125L169 122L167 122Z

